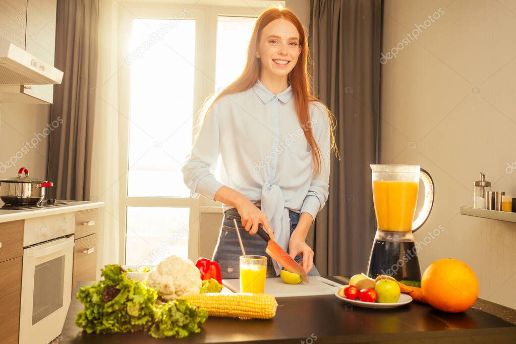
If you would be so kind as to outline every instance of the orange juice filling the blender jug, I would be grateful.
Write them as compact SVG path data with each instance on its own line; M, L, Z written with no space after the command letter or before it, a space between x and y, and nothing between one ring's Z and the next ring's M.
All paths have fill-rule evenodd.
M373 202L378 229L412 231L419 181L373 181Z

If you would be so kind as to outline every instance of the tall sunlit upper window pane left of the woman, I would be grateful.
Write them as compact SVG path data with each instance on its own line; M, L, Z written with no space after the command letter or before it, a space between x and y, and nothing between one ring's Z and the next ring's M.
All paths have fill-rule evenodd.
M131 63L128 196L190 194L181 161L190 149L185 142L192 140L195 21L178 21L147 47L168 22L133 21L130 50L138 58Z

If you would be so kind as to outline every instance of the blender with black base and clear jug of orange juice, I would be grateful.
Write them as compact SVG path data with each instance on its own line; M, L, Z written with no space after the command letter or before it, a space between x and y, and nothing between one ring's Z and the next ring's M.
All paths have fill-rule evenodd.
M420 166L370 165L378 228L369 256L367 274L393 276L397 281L421 281L412 233L428 219L433 204L433 181ZM420 178L425 201L414 220Z

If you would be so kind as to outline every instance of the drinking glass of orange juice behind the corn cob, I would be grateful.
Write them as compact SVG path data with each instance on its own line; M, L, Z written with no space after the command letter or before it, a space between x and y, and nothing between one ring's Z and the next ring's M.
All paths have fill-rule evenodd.
M240 256L240 292L264 292L266 276L267 257Z

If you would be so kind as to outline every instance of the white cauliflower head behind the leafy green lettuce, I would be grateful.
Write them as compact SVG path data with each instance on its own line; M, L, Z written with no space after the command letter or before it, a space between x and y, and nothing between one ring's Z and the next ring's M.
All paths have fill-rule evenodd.
M156 289L164 300L174 300L183 294L198 294L201 273L191 260L172 255L149 274L147 285Z

